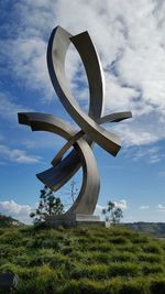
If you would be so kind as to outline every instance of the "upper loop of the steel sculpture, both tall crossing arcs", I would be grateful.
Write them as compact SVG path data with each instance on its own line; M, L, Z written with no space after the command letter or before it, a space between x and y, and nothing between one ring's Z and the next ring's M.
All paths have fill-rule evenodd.
M89 113L92 115L94 119L95 115L97 115L96 119L99 118L99 115L101 115L101 99L103 95L102 87L98 86L102 84L101 69L96 50L87 32L70 37L70 34L61 26L53 30L47 48L47 64L52 84L63 106L70 113L77 124L84 130L84 132L89 134L91 140L98 143L106 151L112 155L117 155L121 146L120 139L116 134L101 128L92 118L87 116L80 109L68 89L65 75L65 56L70 41L79 52L86 70L88 67L92 68L92 72L91 69L87 70L89 85L91 84L91 80L94 81L94 86L89 86L90 101L95 101L90 102ZM98 109L98 111L96 109Z

